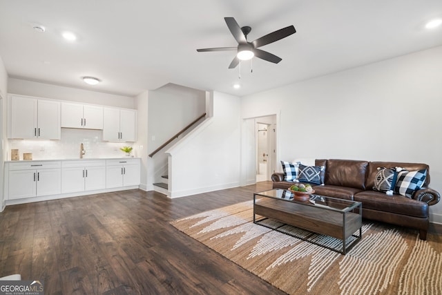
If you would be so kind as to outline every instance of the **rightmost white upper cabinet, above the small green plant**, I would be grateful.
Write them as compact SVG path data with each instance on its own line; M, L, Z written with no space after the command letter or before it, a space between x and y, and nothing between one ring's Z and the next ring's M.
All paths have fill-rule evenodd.
M103 140L135 142L137 140L137 111L104 108Z

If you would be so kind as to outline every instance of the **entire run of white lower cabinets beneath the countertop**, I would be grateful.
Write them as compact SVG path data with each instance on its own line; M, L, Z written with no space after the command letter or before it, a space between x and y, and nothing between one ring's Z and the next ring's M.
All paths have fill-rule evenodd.
M28 198L50 200L139 185L139 158L8 161L3 192L6 204L19 204L32 201Z

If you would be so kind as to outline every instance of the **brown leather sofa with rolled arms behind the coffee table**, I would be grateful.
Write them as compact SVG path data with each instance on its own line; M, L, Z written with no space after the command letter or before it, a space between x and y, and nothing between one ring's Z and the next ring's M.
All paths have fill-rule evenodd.
M368 162L361 160L315 160L316 166L325 166L320 178L323 185L314 185L315 193L322 196L362 202L363 218L419 229L419 238L426 240L429 206L441 199L439 192L430 189L430 171L427 164L401 162ZM427 169L423 187L412 198L387 196L374 191L378 167L403 167L408 171ZM273 173L273 189L287 189L294 182L284 181L284 173Z

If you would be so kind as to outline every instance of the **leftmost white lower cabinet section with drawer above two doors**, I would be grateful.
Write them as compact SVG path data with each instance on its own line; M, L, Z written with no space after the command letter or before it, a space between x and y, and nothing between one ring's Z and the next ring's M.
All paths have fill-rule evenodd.
M61 193L61 162L9 164L8 200Z

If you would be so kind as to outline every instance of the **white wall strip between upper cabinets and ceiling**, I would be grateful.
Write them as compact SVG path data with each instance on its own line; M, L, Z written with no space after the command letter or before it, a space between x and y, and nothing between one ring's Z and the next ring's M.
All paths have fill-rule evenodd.
M23 79L9 79L8 92L50 99L71 100L88 104L102 104L119 108L135 108L135 98L97 91L87 91L79 88L57 86L33 82Z

